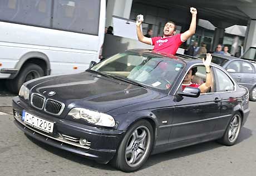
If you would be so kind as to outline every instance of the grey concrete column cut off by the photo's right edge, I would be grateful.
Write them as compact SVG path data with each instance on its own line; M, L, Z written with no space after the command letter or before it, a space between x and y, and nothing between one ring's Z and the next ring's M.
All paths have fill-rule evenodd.
M250 46L253 46L256 44L256 19L251 19L250 24L247 28L248 28L248 34L245 39L244 51L247 51L247 49Z

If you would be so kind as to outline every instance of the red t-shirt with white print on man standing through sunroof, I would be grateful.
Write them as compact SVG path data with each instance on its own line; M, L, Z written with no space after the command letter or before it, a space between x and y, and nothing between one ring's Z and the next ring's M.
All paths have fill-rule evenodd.
M166 54L176 54L179 46L184 42L181 41L181 34L170 37L153 37L151 38L152 45L154 46L153 51L166 53Z

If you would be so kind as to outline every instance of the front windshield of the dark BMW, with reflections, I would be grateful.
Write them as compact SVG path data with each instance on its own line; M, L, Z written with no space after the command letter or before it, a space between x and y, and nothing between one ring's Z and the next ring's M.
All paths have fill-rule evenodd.
M179 59L154 53L124 52L105 59L91 70L168 92L183 68L184 63Z

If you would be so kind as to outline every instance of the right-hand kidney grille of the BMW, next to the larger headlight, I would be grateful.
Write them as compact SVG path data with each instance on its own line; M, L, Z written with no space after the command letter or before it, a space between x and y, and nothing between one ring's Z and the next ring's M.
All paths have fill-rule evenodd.
M51 114L60 115L61 111L64 109L64 104L57 102L53 99L47 99L45 105L45 111Z

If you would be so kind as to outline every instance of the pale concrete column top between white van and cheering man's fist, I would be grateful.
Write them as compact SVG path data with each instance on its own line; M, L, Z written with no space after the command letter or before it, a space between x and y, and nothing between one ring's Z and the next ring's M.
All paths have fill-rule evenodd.
M106 11L106 27L112 26L112 16L130 18L132 0L108 0Z

